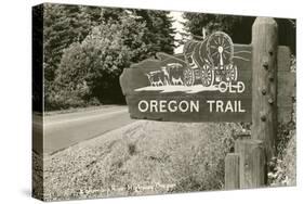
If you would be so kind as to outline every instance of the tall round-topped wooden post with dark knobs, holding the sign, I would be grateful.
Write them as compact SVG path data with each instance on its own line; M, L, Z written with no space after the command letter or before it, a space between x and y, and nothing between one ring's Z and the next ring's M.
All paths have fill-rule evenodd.
M262 140L269 161L276 154L278 26L256 17L252 26L252 139Z

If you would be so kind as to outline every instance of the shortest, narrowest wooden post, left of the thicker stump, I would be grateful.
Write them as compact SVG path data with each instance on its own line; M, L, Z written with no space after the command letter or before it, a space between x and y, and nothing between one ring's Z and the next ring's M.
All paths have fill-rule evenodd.
M239 164L240 156L236 153L229 153L225 157L225 189L239 189Z

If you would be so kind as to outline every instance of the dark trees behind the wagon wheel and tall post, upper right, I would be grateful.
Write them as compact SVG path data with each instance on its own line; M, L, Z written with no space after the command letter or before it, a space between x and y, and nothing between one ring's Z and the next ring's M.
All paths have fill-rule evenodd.
M201 36L202 28L208 34L215 30L227 33L235 43L251 43L251 28L254 16L184 13L186 29ZM275 18L279 27L279 44L289 46L295 53L295 20Z

